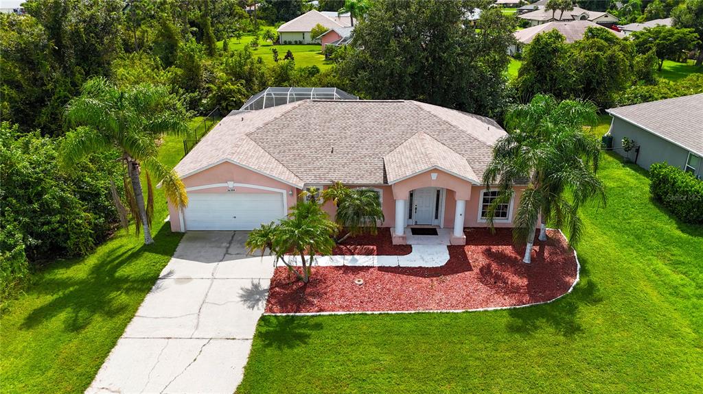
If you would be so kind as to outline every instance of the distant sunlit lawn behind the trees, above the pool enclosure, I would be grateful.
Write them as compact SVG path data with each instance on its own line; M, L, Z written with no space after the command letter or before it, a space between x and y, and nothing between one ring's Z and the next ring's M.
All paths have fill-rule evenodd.
M264 29L273 29L273 27L265 27ZM241 50L244 46L250 45L252 39L254 39L252 35L243 36L240 41L230 39L229 48L230 50ZM217 46L221 48L222 41L219 41ZM250 49L254 56L261 56L264 62L273 62L273 52L271 51L273 48L278 50L278 58L281 60L283 60L285 53L290 50L293 53L295 65L299 67L316 65L321 70L324 70L333 64L330 60L325 60L325 55L321 53L322 46L320 45L272 45L270 41L259 39L259 47Z

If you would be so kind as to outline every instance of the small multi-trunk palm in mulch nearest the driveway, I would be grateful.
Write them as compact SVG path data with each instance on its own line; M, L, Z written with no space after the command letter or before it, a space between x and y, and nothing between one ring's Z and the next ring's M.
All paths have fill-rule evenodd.
M259 250L262 255L269 250L269 254L276 256L276 261L282 261L303 283L308 283L315 255L332 254L336 232L337 225L328 219L327 213L315 200L301 200L280 224L262 224L252 231L245 245L250 252ZM301 272L285 261L285 254L288 253L300 257Z

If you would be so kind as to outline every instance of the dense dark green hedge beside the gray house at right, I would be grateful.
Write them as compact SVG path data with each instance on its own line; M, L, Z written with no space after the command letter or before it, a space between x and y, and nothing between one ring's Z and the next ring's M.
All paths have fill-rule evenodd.
M683 222L703 224L703 181L666 163L650 167L652 196Z

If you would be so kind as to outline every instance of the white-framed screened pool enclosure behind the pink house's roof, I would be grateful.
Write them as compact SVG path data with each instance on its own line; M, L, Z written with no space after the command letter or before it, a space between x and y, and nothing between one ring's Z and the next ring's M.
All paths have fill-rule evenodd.
M282 88L271 86L249 97L240 111L257 111L259 109L278 107L300 100L359 100L337 88Z

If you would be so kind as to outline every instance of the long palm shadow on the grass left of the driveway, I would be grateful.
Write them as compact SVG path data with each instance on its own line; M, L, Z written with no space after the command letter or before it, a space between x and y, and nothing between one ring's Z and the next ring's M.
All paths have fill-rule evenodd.
M30 311L20 328L32 330L46 320L63 316L64 330L77 332L98 316L112 318L126 313L129 308L136 310L138 304L135 305L124 297L146 296L160 271L148 267L152 262L150 255L166 255L169 250L173 253L180 234L174 238L171 230L162 226L153 238L154 245L140 245L127 249L127 253L124 252L124 247L119 246L102 252L105 258L93 264L85 276L44 277L31 292L59 295Z

